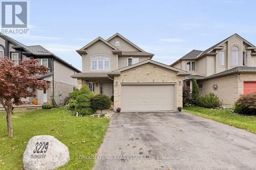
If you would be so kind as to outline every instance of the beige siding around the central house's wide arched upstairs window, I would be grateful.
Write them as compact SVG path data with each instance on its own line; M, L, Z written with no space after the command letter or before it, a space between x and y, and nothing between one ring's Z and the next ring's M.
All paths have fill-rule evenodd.
M98 41L88 48L88 54L82 55L82 72L97 72L95 70L91 70L91 57L96 54L104 54L110 57L110 71L118 69L117 54L112 53L112 47L102 41Z

